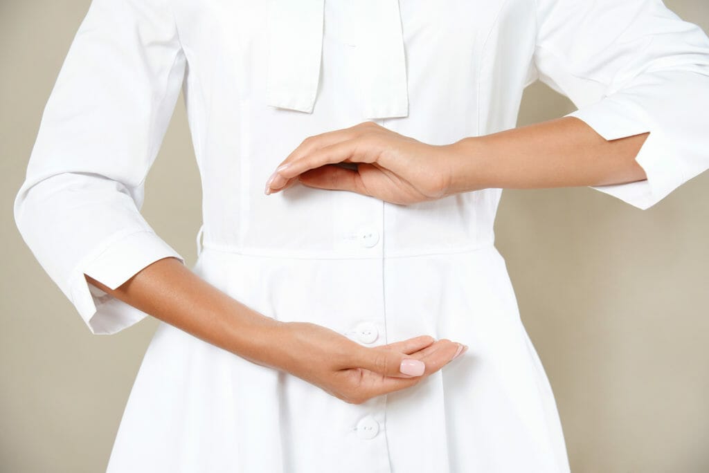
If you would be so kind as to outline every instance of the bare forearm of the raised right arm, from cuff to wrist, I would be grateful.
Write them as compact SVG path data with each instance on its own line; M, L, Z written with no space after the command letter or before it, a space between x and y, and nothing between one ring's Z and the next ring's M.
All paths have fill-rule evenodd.
M647 178L635 161L648 134L611 141L564 117L451 144L447 194L484 188L602 186Z

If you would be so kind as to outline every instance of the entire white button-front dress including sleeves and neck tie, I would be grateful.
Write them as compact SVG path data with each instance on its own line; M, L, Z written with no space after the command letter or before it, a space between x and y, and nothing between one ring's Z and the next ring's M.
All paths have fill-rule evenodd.
M146 314L84 273L118 287L182 259L139 210L184 87L203 184L196 273L267 317L365 346L469 346L355 405L161 323L108 471L569 471L494 246L501 189L414 205L302 185L264 195L309 135L366 120L430 144L486 135L515 126L537 79L606 139L650 132L647 180L597 190L645 209L709 167L709 38L659 0L93 0L15 203L92 333Z

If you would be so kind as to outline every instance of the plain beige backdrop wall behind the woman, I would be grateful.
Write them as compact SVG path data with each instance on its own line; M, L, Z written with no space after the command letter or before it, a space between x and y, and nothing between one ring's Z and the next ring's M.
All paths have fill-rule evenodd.
M705 0L666 5L709 31ZM104 471L157 326L148 317L91 335L12 217L45 102L88 6L0 0L1 472ZM533 84L519 125L571 110ZM181 98L143 213L192 264L199 212ZM573 471L709 472L709 173L645 211L590 188L505 190L496 235Z

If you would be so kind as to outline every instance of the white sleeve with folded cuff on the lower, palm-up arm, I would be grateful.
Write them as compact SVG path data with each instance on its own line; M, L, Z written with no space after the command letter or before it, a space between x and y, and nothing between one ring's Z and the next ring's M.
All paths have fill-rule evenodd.
M46 103L17 227L93 334L147 314L115 289L172 249L140 214L145 177L182 87L186 59L167 0L92 0Z

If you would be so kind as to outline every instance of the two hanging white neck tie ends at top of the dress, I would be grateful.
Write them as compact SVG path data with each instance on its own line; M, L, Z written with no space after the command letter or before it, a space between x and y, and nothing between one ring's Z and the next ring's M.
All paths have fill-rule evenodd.
M352 1L363 118L408 115L406 56L398 0ZM272 0L267 105L312 113L323 51L325 0Z

